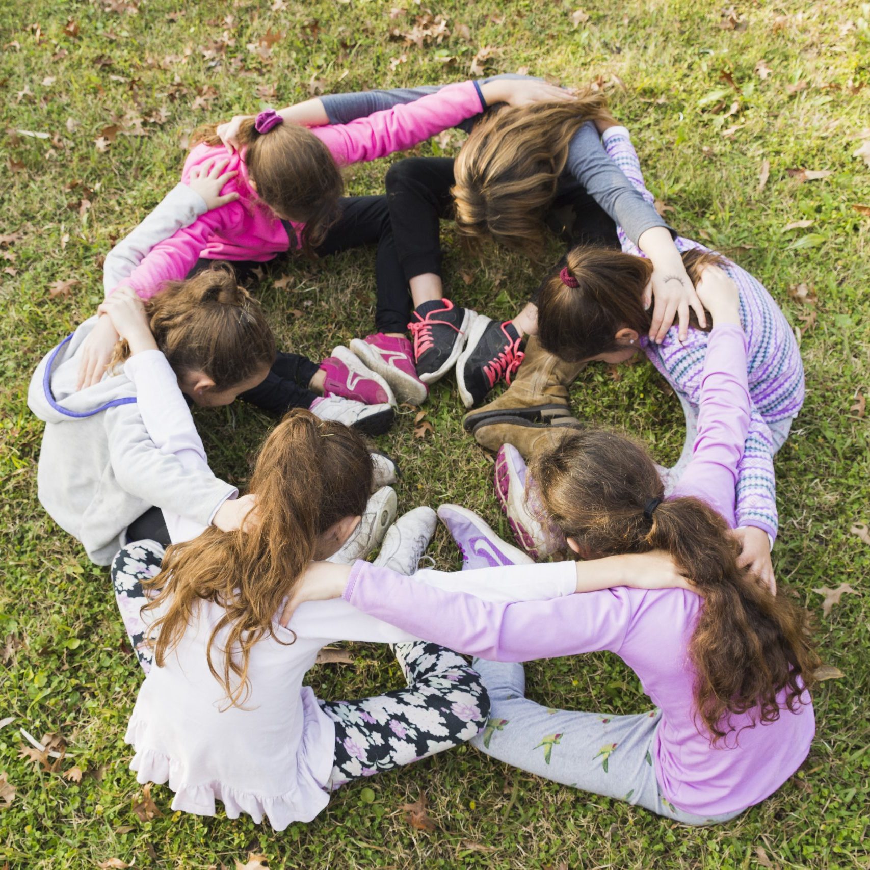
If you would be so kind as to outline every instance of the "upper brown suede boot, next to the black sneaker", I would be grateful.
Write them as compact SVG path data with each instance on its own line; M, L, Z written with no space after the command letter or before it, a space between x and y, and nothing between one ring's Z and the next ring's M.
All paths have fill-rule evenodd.
M465 414L462 425L469 432L476 432L479 425L493 418L521 417L531 423L549 423L570 417L568 387L585 366L586 363L566 363L547 353L537 336L529 336L525 359L511 385L499 398Z

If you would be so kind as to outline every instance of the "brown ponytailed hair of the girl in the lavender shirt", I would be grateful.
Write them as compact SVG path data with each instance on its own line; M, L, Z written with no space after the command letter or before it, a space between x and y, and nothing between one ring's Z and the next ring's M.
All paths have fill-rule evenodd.
M664 499L659 472L629 438L600 429L576 432L532 459L550 517L596 557L666 550L704 596L689 644L697 673L697 712L713 743L734 730L732 715L780 718L777 695L796 712L819 665L808 615L773 596L737 566L724 519L699 499Z

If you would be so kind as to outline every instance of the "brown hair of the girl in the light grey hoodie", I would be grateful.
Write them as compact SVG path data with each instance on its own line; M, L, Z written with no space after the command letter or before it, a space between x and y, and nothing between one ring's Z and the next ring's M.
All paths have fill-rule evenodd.
M167 281L145 302L157 347L177 374L203 371L215 391L242 384L275 361L275 338L256 299L229 266ZM130 356L118 342L110 365Z

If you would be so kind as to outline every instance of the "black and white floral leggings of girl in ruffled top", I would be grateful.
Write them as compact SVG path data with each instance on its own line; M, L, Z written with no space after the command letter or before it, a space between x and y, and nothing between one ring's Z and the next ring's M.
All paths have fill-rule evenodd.
M139 664L151 670L148 597L142 581L160 572L163 548L154 541L124 546L111 566L115 599ZM330 786L425 759L483 730L489 696L477 671L443 646L423 640L391 646L408 686L355 701L319 701L335 723Z

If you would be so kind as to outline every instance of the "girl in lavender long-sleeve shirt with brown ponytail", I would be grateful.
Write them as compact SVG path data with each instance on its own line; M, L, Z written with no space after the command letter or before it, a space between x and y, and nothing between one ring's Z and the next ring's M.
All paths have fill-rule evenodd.
M646 452L610 432L574 432L532 464L545 506L595 566L617 553L669 555L689 582L611 588L552 601L492 604L365 563L311 566L288 609L343 598L405 631L481 657L490 694L475 745L552 780L689 824L733 819L775 792L814 733L806 691L818 665L806 613L740 568L729 528L751 400L733 282L708 269L698 287L713 317L700 378L698 437L671 496ZM509 569L505 569L509 570ZM571 563L526 566L571 577ZM465 572L472 579L475 572ZM305 606L305 605L300 605ZM498 662L608 650L655 708L570 713L525 698L523 669ZM483 659L490 659L485 661Z

